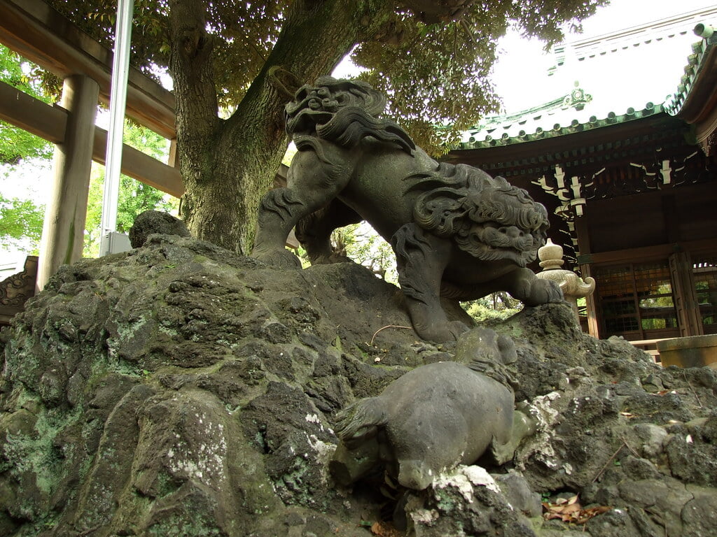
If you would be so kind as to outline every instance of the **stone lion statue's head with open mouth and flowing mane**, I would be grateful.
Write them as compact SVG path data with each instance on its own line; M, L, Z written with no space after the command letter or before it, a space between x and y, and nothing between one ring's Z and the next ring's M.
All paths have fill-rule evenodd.
M366 137L397 145L411 155L411 137L397 123L376 117L384 111L386 98L366 82L320 77L301 87L285 107L290 135L310 132L323 140L354 147Z

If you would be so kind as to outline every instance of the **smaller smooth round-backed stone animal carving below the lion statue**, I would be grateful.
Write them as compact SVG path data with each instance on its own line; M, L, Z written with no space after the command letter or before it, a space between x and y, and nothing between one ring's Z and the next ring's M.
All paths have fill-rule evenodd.
M505 378L500 369L516 359L513 343L478 328L461 337L457 351L470 363L417 367L378 397L339 413L341 442L330 465L337 483L349 485L385 465L404 487L423 490L442 471L475 463L487 451L499 464L513 457L530 424L513 411L513 390L489 376ZM495 359L493 374L488 364Z

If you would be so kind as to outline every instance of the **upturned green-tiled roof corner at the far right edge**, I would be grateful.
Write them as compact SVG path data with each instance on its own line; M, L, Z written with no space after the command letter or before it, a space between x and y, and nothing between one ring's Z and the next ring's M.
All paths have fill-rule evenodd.
M694 125L697 141L709 155L717 149L717 32L698 24L695 34L703 39L693 45L678 91L665 110Z

